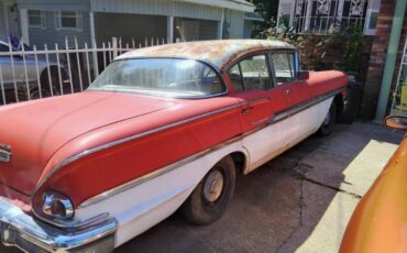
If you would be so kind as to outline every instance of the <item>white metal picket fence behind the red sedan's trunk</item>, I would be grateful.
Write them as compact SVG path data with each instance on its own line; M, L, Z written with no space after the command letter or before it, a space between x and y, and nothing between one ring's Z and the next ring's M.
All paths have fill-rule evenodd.
M48 45L42 50L22 45L15 50L9 41L0 44L0 105L80 92L118 55L165 43L163 38L146 38L143 44L134 40L123 44L112 38L98 47L78 45L74 40L74 47L69 47L66 38L64 48L55 44L53 50Z

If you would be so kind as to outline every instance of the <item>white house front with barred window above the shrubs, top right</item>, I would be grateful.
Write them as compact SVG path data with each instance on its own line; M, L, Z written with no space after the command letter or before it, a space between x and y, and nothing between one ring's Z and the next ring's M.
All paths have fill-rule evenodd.
M329 34L358 24L375 35L380 7L381 0L279 0L277 25L285 18L297 33Z

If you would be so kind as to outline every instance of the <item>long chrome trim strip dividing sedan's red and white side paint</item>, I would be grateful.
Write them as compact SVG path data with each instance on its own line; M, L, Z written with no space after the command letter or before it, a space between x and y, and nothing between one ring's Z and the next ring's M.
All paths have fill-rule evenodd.
M293 116L293 114L295 114L295 113L298 113L298 112L300 112L300 111L302 111L302 110L306 110L306 109L308 109L308 108L310 108L310 107L312 107L312 106L316 106L316 105L318 105L319 102L322 102L322 101L324 101L324 100L327 100L327 99L329 99L329 98L331 98L331 97L336 96L336 95L337 95L337 94L339 94L341 90L342 90L342 89L334 90L334 91L329 92L329 94L327 94L327 95L323 95L323 96L317 97L317 99L312 99L311 101L307 101L307 102L304 102L304 103L301 103L301 105L299 105L299 106L293 107L293 108L288 109L287 111L282 112L282 116L277 114L276 117L274 117L274 118L273 118L273 119L272 119L267 124L265 124L265 125L258 127L258 128L256 128L256 129L254 129L254 130L252 130L252 131L250 131L250 132L248 132L248 133L241 134L241 135L239 135L239 136L237 136L237 138L233 138L233 139L231 139L231 140L229 140L229 141L226 141L226 142L223 142L223 143L221 143L221 144L219 144L219 145L217 145L217 146L215 146L215 147L211 147L211 148L208 148L208 150L201 151L201 152L199 152L198 154L191 155L191 156L186 157L186 158L184 158L184 160L182 160L182 161L175 162L175 163L173 163L173 164L170 164L170 165L168 165L168 166L162 167L162 168L160 168L160 169L157 169L157 170L154 170L154 172L152 172L152 173L148 173L148 174L145 174L145 175L143 175L143 176L141 176L141 177L138 177L138 178L135 178L135 179L133 179L133 180L130 180L130 182L128 182L128 183L124 183L123 185L120 185L120 186L118 186L118 187L114 187L114 188L112 188L112 189L109 189L109 190L107 190L107 191L103 191L103 193L101 193L101 194L99 194L99 195L96 195L96 196L94 196L94 197L91 197L91 198L89 198L89 199L85 200L82 204L80 204L80 205L79 205L79 207L78 207L78 209L80 209L80 208L86 208L86 207L88 207L88 206L90 206L90 205L94 205L94 204L97 204L97 202L99 202L99 201L102 201L103 199L107 199L107 198L112 197L112 196L114 196L114 195L118 195L118 194L120 194L120 193L122 193L122 191L125 191L125 190L128 190L128 189L130 189L130 188L133 188L133 187L135 187L135 186L138 186L138 185L140 185L140 184L142 184L142 183L144 183L144 182L146 182L146 180L153 179L153 178L155 178L155 177L157 177L157 176L161 176L161 175L163 175L163 174L165 174L165 173L172 172L173 169L175 169L175 168L177 168L177 167L179 167L179 166L182 166L182 165L184 165L184 164L187 164L187 163L190 163L190 162L193 162L193 161L195 161L195 160L198 160L198 158L200 158L200 157L202 157L202 156L207 155L207 154L208 154L208 153L210 153L210 152L217 151L217 150L219 150L219 148L221 148L221 147L223 147L223 146L226 146L226 145L229 145L229 144L231 144L231 143L233 143L233 142L240 141L240 140L242 140L244 136L248 136L248 135L250 135L250 134L253 134L253 133L255 133L255 132L257 132L257 131L260 131L260 130L262 130L262 129L264 129L264 128L266 128L266 127L268 127L268 125L271 125L271 124L274 124L274 123L276 123L276 122L278 122L278 121L285 120L285 119L287 119L287 118L292 117L292 116ZM248 102L248 103L250 103L250 102ZM300 140L300 141L301 141L301 140ZM298 142L300 142L300 141L298 141ZM293 145L297 144L298 142L294 143ZM293 145L292 145L292 146L293 146ZM287 148L289 148L289 147L290 147L290 146L287 146ZM283 151L283 152L284 152L284 151ZM248 158L248 157L246 157L246 158ZM251 169L253 166L249 168L249 164L248 164L248 165L246 165L246 167L248 167L246 169L249 169L249 172L250 172L250 170L253 170L253 169Z

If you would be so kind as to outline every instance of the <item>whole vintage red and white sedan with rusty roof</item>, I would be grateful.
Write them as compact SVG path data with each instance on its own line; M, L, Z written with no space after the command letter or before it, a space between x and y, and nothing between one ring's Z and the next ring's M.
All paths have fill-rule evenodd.
M217 220L237 174L332 130L340 72L286 43L208 41L119 56L81 94L0 108L0 234L24 251L106 252L178 208Z

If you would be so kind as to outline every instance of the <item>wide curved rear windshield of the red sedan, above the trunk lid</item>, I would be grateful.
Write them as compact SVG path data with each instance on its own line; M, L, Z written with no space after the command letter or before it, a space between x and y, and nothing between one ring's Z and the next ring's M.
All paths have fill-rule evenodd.
M130 58L111 63L90 90L199 98L226 91L217 73L194 59Z

